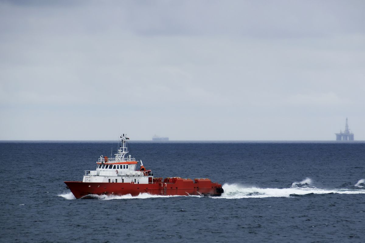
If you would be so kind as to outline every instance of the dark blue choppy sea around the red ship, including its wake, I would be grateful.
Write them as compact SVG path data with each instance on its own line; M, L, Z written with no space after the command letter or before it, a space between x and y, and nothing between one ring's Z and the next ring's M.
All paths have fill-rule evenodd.
M364 142L133 142L155 177L221 197L99 196L82 180L116 142L0 142L0 242L365 242Z

